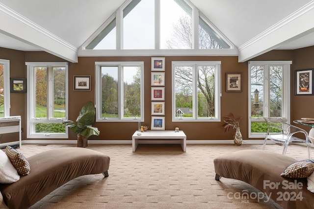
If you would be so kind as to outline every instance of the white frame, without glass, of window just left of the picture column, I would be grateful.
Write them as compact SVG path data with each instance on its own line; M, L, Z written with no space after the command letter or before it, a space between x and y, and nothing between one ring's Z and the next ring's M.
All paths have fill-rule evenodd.
M118 117L102 117L102 67L110 66L110 67L118 67ZM141 101L140 101L140 117L123 117L123 70L122 67L128 66L140 66L141 67L141 81L140 81L140 93L141 93ZM126 122L126 121L134 121L134 122L144 122L144 62L95 62L95 107L96 107L96 122Z

